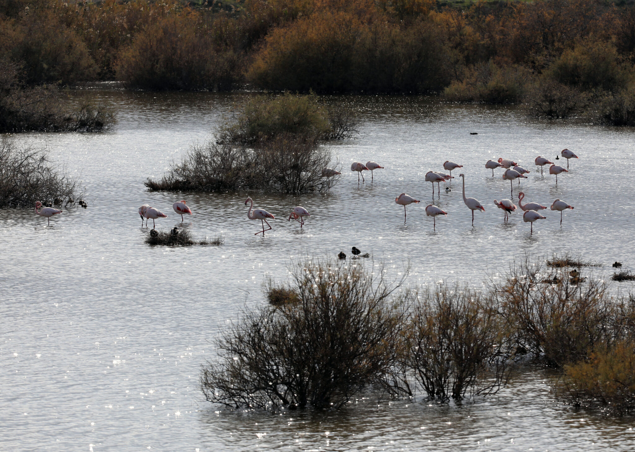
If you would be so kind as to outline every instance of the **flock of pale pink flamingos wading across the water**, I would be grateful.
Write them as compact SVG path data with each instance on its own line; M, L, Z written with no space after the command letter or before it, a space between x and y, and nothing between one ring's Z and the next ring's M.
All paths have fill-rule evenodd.
M566 158L566 167L569 167L569 159L570 158L578 158L577 155L575 155L574 153L572 153L572 151L570 151L569 149L563 149L561 151L561 155L563 156L563 158ZM556 157L558 158L558 157ZM540 173L542 174L542 167L544 167L544 165L551 165L549 167L549 174L554 174L556 175L556 184L558 184L558 174L561 174L563 172L568 172L568 169L565 169L563 167L560 167L559 165L556 165L554 162L549 161L549 159L538 156L535 159L535 164L537 166L540 167ZM452 171L456 170L457 168L462 168L463 165L458 165L457 163L453 163L451 161L446 161L445 163L443 163L443 168L446 171L449 171L450 174L445 174L442 172L433 172L433 171L429 171L427 172L427 174L425 174L425 181L426 182L432 182L432 200L434 200L434 183L436 182L437 184L437 191L438 191L438 195L440 195L440 188L439 188L439 184L441 182L445 182L448 181L450 179L453 179L452 176ZM491 169L491 175L493 177L494 175L494 169L495 168L505 168L505 172L503 174L503 179L506 181L509 181L511 188L512 188L512 197L513 197L513 185L512 185L512 181L514 181L515 179L519 179L521 177L523 178L527 178L527 176L525 174L527 174L529 171L526 170L523 167L519 167L518 163L516 163L515 161L512 160L507 160L504 158L499 158L498 161L493 161L493 160L488 160L487 163L485 163L485 168ZM368 163L366 163L366 165L363 165L363 163L360 163L359 161L354 162L351 165L351 171L357 171L358 172L358 182L359 182L359 177L361 176L362 181L365 182L364 180L364 175L362 174L362 171L366 171L366 170L370 170L371 172L371 179L373 178L373 171L380 169L380 168L384 168L381 167L380 165L378 165L375 161L369 161ZM333 170L331 168L324 168L324 170L322 171L322 175L326 178L330 178L333 177L334 175L338 175L341 174L340 172ZM461 177L463 179L463 202L465 203L465 205L467 206L468 209L472 210L472 226L474 225L474 210L481 210L483 212L485 212L485 207L483 207L483 205L479 202L479 200L477 200L476 198L467 198L465 196L465 175L464 174L459 174L458 177ZM520 183L520 181L518 181L518 183ZM446 190L449 190L448 188L446 188ZM524 211L523 213L523 221L525 221L525 223L530 223L531 224L531 234L533 235L533 223L537 220L540 219L545 219L546 217L540 215L538 213L539 210L542 209L547 209L547 207L545 207L544 205L540 205L538 203L535 202L530 202L530 203L526 203L523 204L523 199L525 198L525 193L523 193L522 191L518 193L518 205L520 206L520 208ZM406 221L406 205L409 205L411 203L419 203L419 200L416 200L415 198L413 198L410 195L406 195L406 193L401 193L401 195L397 196L395 198L395 202L399 205L403 205L403 217L404 217L404 222ZM271 218L274 219L274 216L272 214L270 214L269 212L267 212L267 210L264 209L253 209L253 200L251 198L247 198L246 201L244 202L245 205L247 205L247 203L251 203L249 210L247 212L247 217L250 220L260 220L260 224L262 224L262 231L258 231L257 233L255 233L254 235L258 235L260 233L262 233L262 235L265 235L265 231L269 231L269 229L271 229L271 225L269 223L267 223L267 219ZM507 222L508 216L511 212L514 212L516 209L518 209L518 206L516 206L514 204L514 202L512 202L512 200L509 199L504 199L504 200L494 200L494 204L496 205L496 207L498 207L498 209L502 209L504 211L504 221ZM39 209L39 210L37 210ZM181 216L181 221L183 221L183 216L184 215L192 215L192 210L190 210L189 207L187 207L187 205L185 204L185 200L182 201L178 201L175 202L172 205L172 209L174 209L175 212L177 212L178 215ZM573 209L573 206L568 205L566 202L561 201L559 199L555 200L552 205L551 205L551 210L559 210L560 211L560 224L562 224L562 212L563 210L566 209ZM50 224L50 218L55 215L55 214L61 214L62 210L58 210L58 209L53 209L53 207L42 207L42 203L37 201L36 202L36 214L39 216L43 216L46 217L49 221ZM436 217L439 215L448 215L448 212L445 212L444 210L439 209L439 207L436 207L436 205L432 205L432 204L428 204L425 207L425 214L427 216L432 217L433 221L433 228L436 230ZM147 221L148 219L152 219L152 229L155 228L154 226L154 220L156 220L157 218L167 218L168 216L166 214L164 214L163 212L161 212L159 209L155 209L154 207L150 207L150 205L148 204L144 204L141 207L139 207L139 216L141 217L141 225L143 227L144 224L144 218L145 218L145 223L146 223L146 227L147 227ZM291 219L297 221L298 223L300 223L300 228L302 228L302 226L304 225L304 217L309 217L311 216L311 214L309 214L309 212L307 211L307 209L304 209L304 207L295 207L293 209L293 212L291 212L288 221L291 221ZM267 226L269 226L269 229L265 229L265 223L267 223Z

